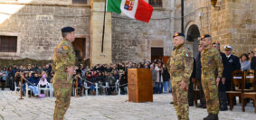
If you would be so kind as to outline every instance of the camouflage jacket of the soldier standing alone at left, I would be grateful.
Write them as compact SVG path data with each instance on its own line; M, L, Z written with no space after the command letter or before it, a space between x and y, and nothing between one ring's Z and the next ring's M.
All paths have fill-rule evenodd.
M57 78L67 74L67 69L74 66L75 55L71 42L63 40L53 51L53 71ZM59 75L59 76L58 76Z

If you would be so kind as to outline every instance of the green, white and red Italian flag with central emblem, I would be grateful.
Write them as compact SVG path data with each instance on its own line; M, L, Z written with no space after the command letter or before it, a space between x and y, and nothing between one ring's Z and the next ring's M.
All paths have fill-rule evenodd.
M144 0L108 0L107 11L126 14L138 21L149 23L153 7Z

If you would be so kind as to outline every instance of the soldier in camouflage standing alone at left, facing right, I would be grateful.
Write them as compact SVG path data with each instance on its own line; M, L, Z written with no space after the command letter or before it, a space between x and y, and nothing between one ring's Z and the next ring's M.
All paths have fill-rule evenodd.
M62 42L53 51L54 96L56 97L53 120L63 120L70 106L73 66L75 55L71 42L75 40L74 29L62 28Z

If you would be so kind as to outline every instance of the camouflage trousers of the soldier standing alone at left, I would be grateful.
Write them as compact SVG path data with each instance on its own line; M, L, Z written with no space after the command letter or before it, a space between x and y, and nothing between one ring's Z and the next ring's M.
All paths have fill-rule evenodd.
M63 120L71 103L71 83L55 82L53 84L54 96L56 97L53 120Z

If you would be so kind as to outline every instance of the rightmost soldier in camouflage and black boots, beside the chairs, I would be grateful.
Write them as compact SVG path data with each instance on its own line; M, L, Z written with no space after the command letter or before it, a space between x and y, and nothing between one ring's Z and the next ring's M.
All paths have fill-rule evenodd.
M211 46L212 38L210 35L206 34L202 36L201 42L204 46L204 51L201 52L201 82L208 112L208 116L204 120L218 120L218 85L223 75L223 63L219 51Z

